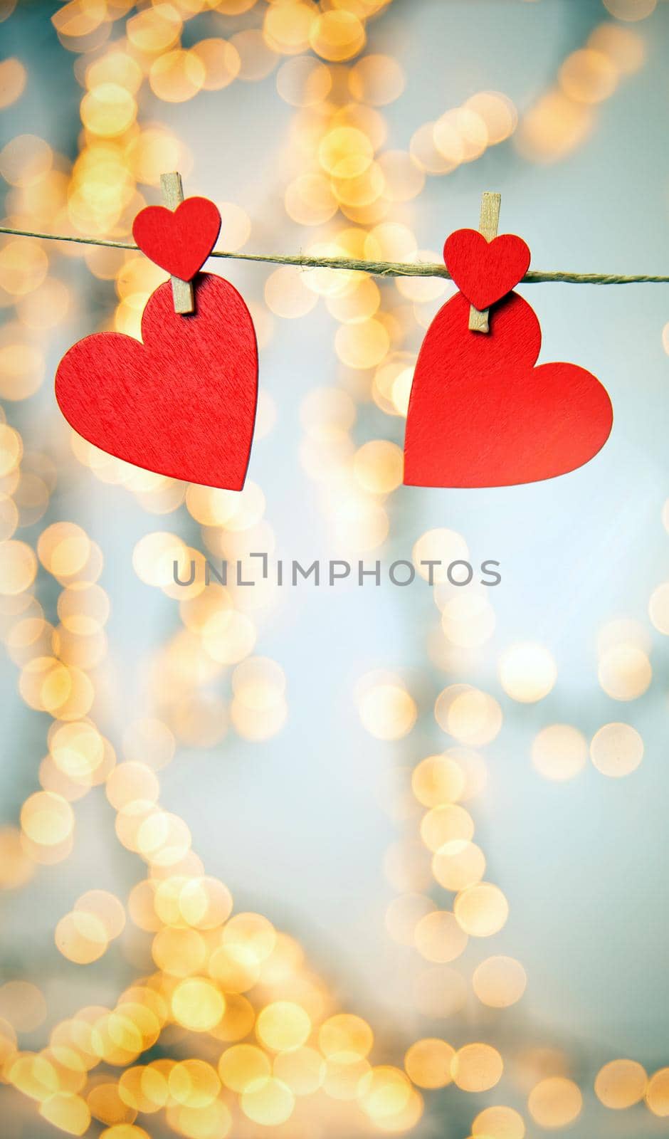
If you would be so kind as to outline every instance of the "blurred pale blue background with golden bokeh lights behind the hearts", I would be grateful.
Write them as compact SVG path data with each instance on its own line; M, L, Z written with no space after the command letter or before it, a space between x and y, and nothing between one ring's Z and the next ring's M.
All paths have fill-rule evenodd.
M7 227L127 241L179 170L222 248L438 261L489 189L536 269L667 272L662 0L0 7ZM261 346L239 495L56 407L165 274L0 246L3 1134L666 1133L668 288L521 287L611 440L428 491L449 284L209 267ZM254 550L381 584L204 587ZM503 580L389 583L429 557Z

